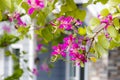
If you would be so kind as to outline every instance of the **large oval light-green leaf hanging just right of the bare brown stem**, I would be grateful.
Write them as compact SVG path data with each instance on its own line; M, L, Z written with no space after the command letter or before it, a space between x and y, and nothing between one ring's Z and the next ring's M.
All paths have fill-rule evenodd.
M99 42L100 45L101 45L103 48L105 48L105 49L108 49L109 46L110 46L110 43L109 43L109 41L106 39L106 37L105 37L104 34L98 36L98 42Z

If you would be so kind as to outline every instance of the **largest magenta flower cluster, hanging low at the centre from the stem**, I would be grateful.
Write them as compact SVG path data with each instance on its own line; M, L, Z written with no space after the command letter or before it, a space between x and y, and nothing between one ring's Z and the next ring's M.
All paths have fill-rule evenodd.
M89 39L83 36L75 37L69 35L64 38L63 44L53 46L52 56L61 55L65 58L66 54L69 54L70 60L74 61L76 64L80 65L80 63L85 63L87 61L85 52L86 43L88 43L88 41Z

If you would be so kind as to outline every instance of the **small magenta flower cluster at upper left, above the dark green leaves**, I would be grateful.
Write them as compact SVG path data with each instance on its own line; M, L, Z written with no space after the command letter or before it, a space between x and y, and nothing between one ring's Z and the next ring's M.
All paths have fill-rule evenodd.
M17 22L17 25L19 26L26 26L26 23L22 21L20 13L13 13L13 15L9 16L9 21L10 22Z

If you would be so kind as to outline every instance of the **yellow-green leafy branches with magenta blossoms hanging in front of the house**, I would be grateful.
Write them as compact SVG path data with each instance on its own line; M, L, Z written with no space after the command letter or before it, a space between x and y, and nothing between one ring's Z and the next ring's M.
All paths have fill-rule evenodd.
M96 62L108 50L120 46L120 1L89 0L83 7L98 2L110 6L103 9L98 17L92 18L89 26L84 26L82 23L86 10L79 9L74 0L0 0L0 21L14 23L19 33L16 36L4 31L0 36L0 48L8 47L25 37L31 38L28 34L31 24L21 19L27 14L34 22L34 32L40 39L39 43L52 44L52 62L65 60L67 54L70 61L80 66L84 66L88 60ZM40 49L48 51L41 46ZM15 61L18 59L10 52L6 55L12 56ZM22 74L23 70L18 68L5 80L19 79Z

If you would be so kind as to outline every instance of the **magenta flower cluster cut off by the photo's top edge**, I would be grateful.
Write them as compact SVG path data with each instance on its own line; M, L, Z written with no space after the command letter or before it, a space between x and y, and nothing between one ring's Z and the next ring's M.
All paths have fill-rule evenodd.
M27 3L30 5L30 8L28 10L28 14L32 14L37 9L43 9L44 8L44 0L27 0Z

